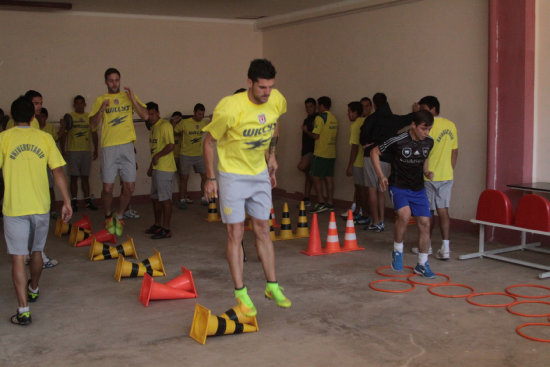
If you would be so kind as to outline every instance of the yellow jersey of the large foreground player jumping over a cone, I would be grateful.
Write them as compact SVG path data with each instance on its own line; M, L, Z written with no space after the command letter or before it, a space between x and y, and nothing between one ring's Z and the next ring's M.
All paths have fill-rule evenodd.
M286 99L273 89L266 103L254 104L248 93L223 98L204 127L218 141L218 169L241 175L257 175L266 169L265 152L286 112Z

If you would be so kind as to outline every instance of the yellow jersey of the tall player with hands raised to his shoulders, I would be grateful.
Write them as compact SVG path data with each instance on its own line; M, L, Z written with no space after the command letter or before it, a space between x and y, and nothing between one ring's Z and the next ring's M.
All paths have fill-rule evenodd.
M141 106L146 107L135 94L134 97ZM134 107L128 94L126 92L107 93L97 97L90 111L90 116L94 116L101 109L101 105L105 100L109 101L109 105L103 111L102 116L101 147L122 145L135 141Z

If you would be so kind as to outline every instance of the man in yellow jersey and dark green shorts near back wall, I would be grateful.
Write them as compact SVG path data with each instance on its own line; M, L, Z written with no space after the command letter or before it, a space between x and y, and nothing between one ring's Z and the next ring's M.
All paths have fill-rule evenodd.
M313 138L315 149L311 162L311 177L317 193L317 204L311 209L312 213L321 213L334 210L334 163L336 161L336 135L338 134L338 120L330 112L332 101L323 96L317 99L319 113L315 117ZM327 198L323 196L323 182L327 188Z

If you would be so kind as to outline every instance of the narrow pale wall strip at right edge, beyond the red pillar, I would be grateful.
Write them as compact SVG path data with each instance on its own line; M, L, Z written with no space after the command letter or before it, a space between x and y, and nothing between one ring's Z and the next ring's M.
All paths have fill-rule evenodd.
M535 3L535 129L533 148L533 181L550 181L550 160L548 142L550 141L550 2Z

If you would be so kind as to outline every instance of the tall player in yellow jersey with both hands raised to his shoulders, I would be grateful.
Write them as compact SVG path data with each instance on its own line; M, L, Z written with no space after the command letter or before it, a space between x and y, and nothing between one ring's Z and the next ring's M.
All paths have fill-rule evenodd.
M142 119L149 115L143 102L129 87L120 91L120 72L115 68L105 71L107 93L95 100L90 111L90 125L96 129L101 126L101 175L103 189L101 198L105 210L105 228L110 233L122 235L124 222L122 217L130 203L136 185L136 153L134 142L133 114L136 112ZM116 175L120 174L122 190L119 198L119 210L113 213L113 187ZM114 214L114 215L113 215Z

